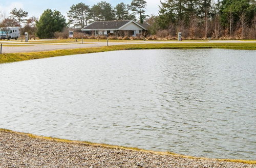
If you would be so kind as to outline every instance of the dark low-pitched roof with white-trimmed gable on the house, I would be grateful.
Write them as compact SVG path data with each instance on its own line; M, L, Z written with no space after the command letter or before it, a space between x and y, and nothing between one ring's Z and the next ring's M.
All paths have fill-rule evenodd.
M129 23L135 23L142 29L147 30L142 24L136 23L133 20L114 20L114 21L95 21L88 26L84 27L82 31L86 30L119 30ZM148 25L148 24L147 24Z

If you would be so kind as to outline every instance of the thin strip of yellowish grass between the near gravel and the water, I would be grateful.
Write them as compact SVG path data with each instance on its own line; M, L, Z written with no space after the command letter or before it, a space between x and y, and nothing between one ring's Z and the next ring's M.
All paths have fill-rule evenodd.
M141 152L145 152L145 153L152 153L152 154L158 154L158 155L171 155L171 156L177 156L177 157L181 157L181 158L210 160L210 158L186 156L186 155L180 155L180 154L176 154L176 153L172 153L172 152L157 152L157 151L144 150L144 149L139 149L139 148L114 146L114 145L108 145L108 144L98 144L98 143L82 142L82 141L71 141L71 140L68 140L68 139L38 136L38 135L29 134L29 133L15 132L15 131L0 128L0 132L1 131L10 132L10 133L13 133L13 134L27 135L31 138L36 138L36 139L47 139L47 140L55 141L55 142L59 142L59 143L71 143L71 144L75 143L75 144L83 144L83 145L110 148L110 149L123 149L123 150L129 150L129 151L141 151ZM247 163L247 164L256 164L256 160L241 160L241 159L216 159L216 160L218 160L218 161L228 161L228 162Z

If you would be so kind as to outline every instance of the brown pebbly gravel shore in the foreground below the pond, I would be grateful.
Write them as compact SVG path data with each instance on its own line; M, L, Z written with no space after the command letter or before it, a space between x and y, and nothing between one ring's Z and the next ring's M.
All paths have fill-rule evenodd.
M0 167L256 167L215 159L190 159L82 142L59 142L0 130Z

